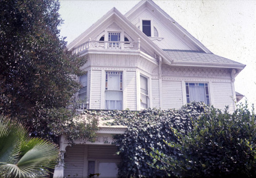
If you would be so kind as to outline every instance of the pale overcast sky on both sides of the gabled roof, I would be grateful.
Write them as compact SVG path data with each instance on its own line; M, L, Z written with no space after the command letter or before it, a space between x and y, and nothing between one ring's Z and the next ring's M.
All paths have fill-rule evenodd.
M139 1L60 0L63 24L60 36L70 43L106 12L122 14ZM249 105L256 106L256 1L165 0L154 1L212 53L246 65L234 83Z

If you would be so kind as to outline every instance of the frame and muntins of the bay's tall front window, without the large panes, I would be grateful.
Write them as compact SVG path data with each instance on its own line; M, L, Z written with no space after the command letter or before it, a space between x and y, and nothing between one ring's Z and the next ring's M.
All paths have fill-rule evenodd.
M118 74L119 75L119 89L116 90L112 90L109 88L109 74ZM123 109L123 71L105 71L105 99L104 99L104 103L105 103L105 109L106 110L122 110ZM121 100L112 100L115 101L115 105L117 104L117 101L121 101L121 107L119 109L115 108L115 109L110 109L108 107L107 104L107 92L120 92L121 94ZM111 100L108 100L111 101Z

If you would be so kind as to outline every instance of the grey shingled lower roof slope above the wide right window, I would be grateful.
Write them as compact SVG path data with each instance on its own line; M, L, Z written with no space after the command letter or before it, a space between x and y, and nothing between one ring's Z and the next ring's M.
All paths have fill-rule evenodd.
M243 69L244 64L217 56L212 53L197 52L194 50L163 49L173 60L173 65L209 66Z

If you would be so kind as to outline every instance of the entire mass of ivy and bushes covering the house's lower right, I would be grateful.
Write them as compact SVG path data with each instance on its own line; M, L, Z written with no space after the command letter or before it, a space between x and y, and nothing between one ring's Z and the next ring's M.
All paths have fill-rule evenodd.
M254 110L233 114L202 103L179 110L87 111L110 125L126 125L116 135L120 177L255 176Z

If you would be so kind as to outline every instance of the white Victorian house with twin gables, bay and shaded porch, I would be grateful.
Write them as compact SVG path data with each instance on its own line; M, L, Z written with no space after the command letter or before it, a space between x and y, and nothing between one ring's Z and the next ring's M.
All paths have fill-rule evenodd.
M245 65L212 54L151 0L125 15L111 9L68 48L88 60L82 67L87 74L77 79L81 108L165 110L195 100L236 109L234 78ZM99 126L94 143L70 147L61 137L65 167L57 167L54 177L117 176L120 157L110 143L125 126Z

